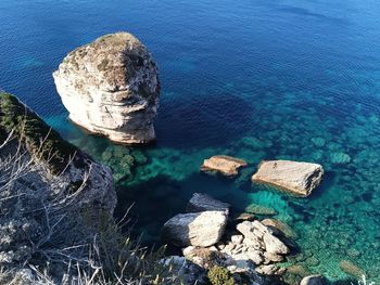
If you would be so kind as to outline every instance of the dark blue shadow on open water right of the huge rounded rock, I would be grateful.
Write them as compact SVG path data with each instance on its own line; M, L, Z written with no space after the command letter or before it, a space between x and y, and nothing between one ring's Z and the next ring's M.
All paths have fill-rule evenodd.
M231 93L164 99L156 120L157 143L167 147L224 146L239 140L252 104ZM170 126L169 128L167 126Z

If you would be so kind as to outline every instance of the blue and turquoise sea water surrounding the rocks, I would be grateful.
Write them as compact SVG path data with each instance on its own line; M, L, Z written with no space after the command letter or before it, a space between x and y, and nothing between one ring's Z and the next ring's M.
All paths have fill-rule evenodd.
M0 88L18 95L73 143L102 158L117 146L66 120L52 72L66 53L127 30L156 59L162 100L157 143L148 159L114 166L123 212L148 242L182 211L193 192L236 210L271 207L299 235L291 259L331 280L351 260L380 275L380 2L297 1L0 1ZM202 160L230 154L250 161L237 180L200 174ZM324 165L306 199L250 183L261 159ZM316 260L318 262L316 262Z

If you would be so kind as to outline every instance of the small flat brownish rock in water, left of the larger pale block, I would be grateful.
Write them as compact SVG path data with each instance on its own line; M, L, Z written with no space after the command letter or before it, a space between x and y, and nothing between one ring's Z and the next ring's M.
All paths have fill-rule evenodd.
M216 171L227 177L235 177L239 173L239 168L246 165L244 160L239 158L227 155L215 155L208 159L204 159L201 171Z

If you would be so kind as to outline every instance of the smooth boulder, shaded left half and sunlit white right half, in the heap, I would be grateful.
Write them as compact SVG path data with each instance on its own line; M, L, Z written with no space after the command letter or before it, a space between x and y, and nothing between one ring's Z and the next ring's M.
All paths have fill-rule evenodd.
M179 213L163 228L163 239L176 246L211 246L219 242L227 224L224 211Z

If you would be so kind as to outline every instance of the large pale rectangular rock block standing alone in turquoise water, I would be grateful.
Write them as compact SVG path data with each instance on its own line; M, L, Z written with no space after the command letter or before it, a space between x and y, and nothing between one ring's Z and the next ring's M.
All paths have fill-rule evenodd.
M317 164L269 160L259 165L252 180L278 186L295 195L308 196L319 185L324 172L324 168Z

